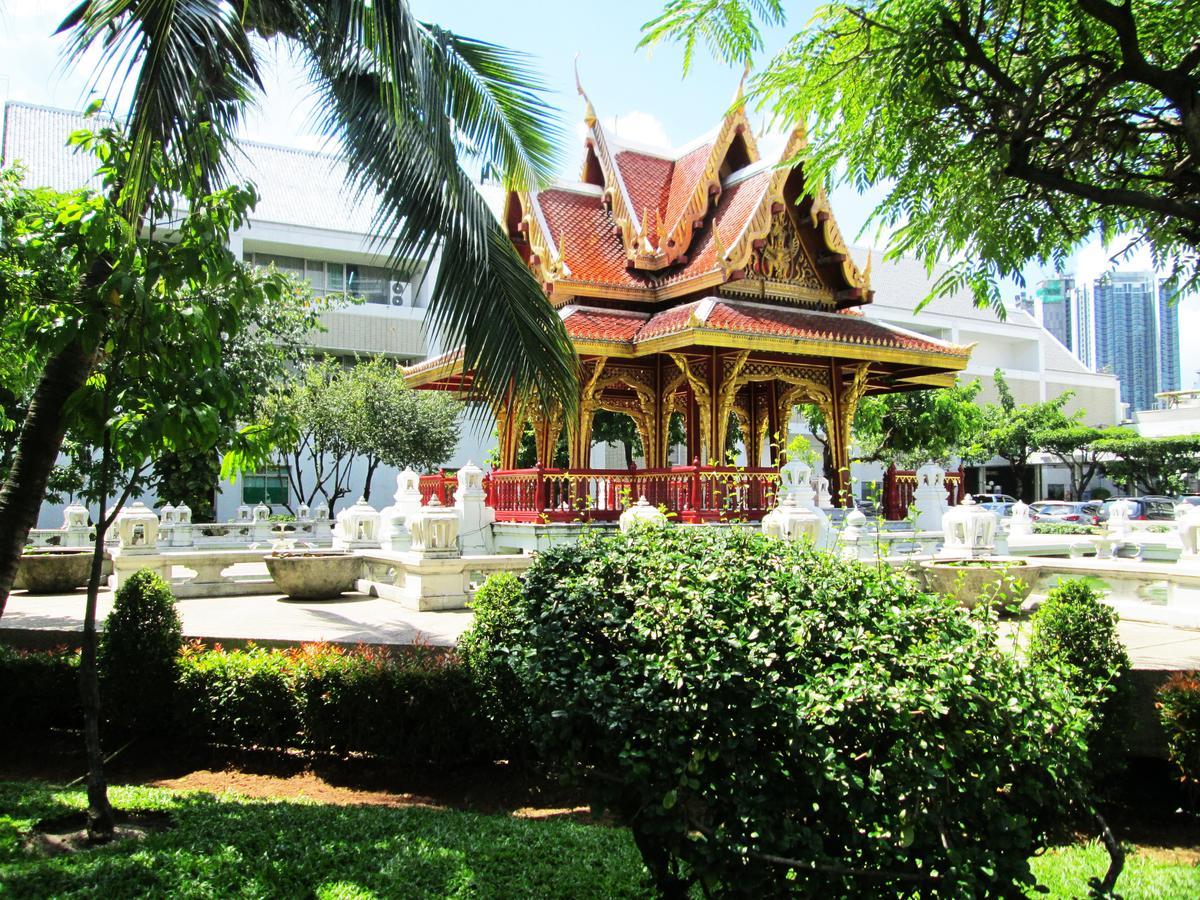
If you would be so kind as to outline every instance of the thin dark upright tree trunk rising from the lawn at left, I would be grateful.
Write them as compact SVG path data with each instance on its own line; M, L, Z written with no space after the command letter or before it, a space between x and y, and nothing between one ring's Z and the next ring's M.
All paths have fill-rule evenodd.
M104 563L104 535L108 533L108 448L101 461L100 515L96 518L96 546L88 578L88 605L83 617L83 654L79 659L79 695L83 701L83 743L88 758L88 839L104 844L113 839L116 823L108 802L104 752L100 744L100 671L96 665L96 600Z

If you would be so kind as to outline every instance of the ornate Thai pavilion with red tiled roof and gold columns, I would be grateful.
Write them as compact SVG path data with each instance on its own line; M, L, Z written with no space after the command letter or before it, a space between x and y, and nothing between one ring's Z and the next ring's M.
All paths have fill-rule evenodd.
M582 90L581 90L582 94ZM584 95L586 98L586 95ZM850 424L870 394L954 383L970 348L865 318L875 294L823 191L806 193L797 130L760 157L743 104L715 134L676 152L620 144L587 103L580 181L512 192L504 226L559 310L580 355L574 421L532 398L494 404L499 521L614 518L644 494L682 521L758 518L773 502L793 406L816 404L844 497ZM456 353L406 370L413 386L461 391ZM589 469L596 410L637 426L646 469ZM679 414L691 466L668 467ZM749 466L725 462L737 416ZM565 469L516 469L527 424L550 462L566 428Z

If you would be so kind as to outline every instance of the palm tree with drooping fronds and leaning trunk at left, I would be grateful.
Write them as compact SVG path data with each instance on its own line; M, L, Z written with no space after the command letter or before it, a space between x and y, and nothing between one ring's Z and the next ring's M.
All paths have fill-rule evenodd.
M442 253L430 322L444 342L463 346L476 388L572 404L565 330L462 168L490 167L514 187L552 172L557 126L527 58L418 22L404 0L84 0L59 31L71 59L98 54L97 79L132 79L118 83L128 86L131 158L114 191L131 222L152 194L156 148L197 167L202 181L222 181L240 118L262 91L263 46L288 42L320 95L320 127L352 188L382 198L377 230L392 258ZM98 258L79 286L100 317L103 300L90 295L110 265ZM0 614L66 431L67 401L96 358L88 334L68 336L35 389L0 488Z

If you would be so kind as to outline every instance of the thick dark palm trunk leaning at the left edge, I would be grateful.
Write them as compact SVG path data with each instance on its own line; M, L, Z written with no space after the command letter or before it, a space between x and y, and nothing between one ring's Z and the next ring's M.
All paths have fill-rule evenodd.
M95 348L85 347L78 340L72 341L50 356L34 391L12 468L0 488L0 616L17 577L29 529L37 524L46 484L66 434L64 407L88 379L95 359Z

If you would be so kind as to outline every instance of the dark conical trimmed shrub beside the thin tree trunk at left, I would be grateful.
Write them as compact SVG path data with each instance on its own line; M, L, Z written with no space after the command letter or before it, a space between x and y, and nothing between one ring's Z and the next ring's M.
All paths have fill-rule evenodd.
M175 707L184 630L175 595L156 572L130 576L100 636L104 713L119 728L162 734Z

